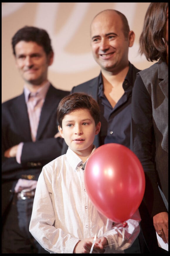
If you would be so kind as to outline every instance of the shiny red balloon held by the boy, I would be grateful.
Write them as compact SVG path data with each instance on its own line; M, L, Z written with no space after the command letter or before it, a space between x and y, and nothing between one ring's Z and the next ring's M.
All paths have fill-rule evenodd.
M123 145L98 147L87 160L84 180L93 205L114 222L130 219L142 202L144 170L137 156Z

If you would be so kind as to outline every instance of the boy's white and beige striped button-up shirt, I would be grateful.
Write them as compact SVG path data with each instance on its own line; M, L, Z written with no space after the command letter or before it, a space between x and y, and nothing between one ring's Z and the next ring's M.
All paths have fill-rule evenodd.
M108 240L105 253L124 253L140 232L139 211L127 220L126 227L120 223L113 225L113 221L99 213L86 193L85 164L68 149L66 154L43 167L29 230L51 253L73 253L79 240L95 235Z

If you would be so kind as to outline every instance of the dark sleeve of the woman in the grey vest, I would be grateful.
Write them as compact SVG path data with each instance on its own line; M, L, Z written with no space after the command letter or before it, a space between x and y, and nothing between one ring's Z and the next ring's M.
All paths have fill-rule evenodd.
M139 158L145 172L145 193L143 201L151 217L166 211L157 184L154 153L155 139L152 119L152 100L137 74L132 91L131 150ZM157 204L159 202L159 204Z

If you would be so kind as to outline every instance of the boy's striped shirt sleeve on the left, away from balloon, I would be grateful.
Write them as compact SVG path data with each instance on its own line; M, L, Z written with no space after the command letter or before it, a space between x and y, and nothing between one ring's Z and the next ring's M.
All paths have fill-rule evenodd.
M58 206L56 206L58 207ZM55 227L55 212L52 205L51 176L43 167L35 191L29 231L39 244L50 253L73 253L80 241Z

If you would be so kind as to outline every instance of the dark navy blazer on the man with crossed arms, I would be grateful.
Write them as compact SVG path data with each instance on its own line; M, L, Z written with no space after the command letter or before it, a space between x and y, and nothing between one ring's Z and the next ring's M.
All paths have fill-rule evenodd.
M30 123L24 93L2 103L2 215L12 199L16 182L22 175L38 179L43 165L61 155L62 138L54 138L57 130L56 109L69 94L50 85L40 115L36 142L31 139ZM16 157L6 158L4 152L24 142L21 164Z

